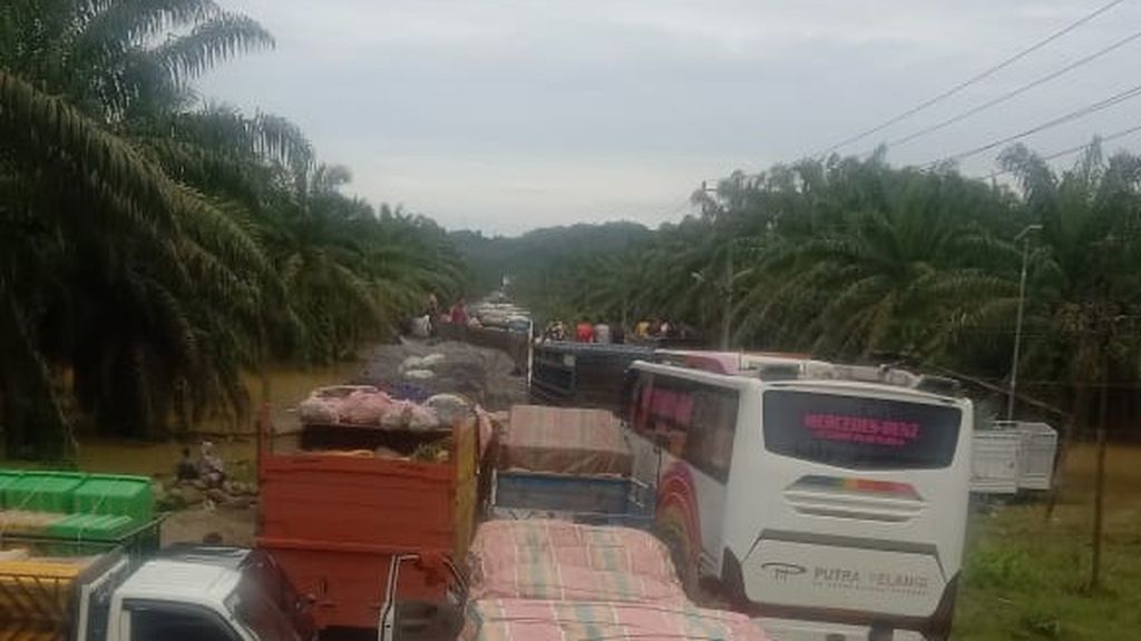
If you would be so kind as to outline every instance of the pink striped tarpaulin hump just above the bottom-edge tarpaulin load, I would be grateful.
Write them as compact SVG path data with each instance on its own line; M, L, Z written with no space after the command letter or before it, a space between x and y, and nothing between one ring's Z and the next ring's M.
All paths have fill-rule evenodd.
M487 521L479 526L468 555L476 587L497 569L544 562L678 582L665 545L631 528L560 520Z

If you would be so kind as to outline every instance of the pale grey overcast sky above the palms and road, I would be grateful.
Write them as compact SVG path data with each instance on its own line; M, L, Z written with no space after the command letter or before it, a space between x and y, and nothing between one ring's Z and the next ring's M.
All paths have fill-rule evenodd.
M275 50L202 94L289 117L350 190L450 228L656 226L702 180L794 161L950 88L1108 0L219 0ZM961 113L1141 30L1141 0L844 152ZM923 163L1139 82L1141 40L938 133ZM1052 153L1141 124L1141 99L1026 141ZM1136 147L1141 133L1109 145ZM993 169L994 153L962 163Z

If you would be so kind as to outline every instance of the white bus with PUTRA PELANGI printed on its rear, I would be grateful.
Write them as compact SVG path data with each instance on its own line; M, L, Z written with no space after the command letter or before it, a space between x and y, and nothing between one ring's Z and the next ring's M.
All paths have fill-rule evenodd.
M949 636L969 400L899 370L659 357L688 365L634 363L625 419L690 587L718 579L782 641Z

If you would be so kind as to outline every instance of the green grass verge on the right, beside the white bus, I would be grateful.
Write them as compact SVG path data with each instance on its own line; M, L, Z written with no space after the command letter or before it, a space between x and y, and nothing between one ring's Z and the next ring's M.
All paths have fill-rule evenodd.
M972 514L954 639L1141 638L1141 447L1112 447L1107 470L1102 586L1089 589L1094 449L1083 446L1049 522L1042 504Z

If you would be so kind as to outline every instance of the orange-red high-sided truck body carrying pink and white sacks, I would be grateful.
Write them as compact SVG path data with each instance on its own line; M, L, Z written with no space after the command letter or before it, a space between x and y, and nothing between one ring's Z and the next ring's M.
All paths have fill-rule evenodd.
M439 448L431 460L375 455L378 430L340 425L305 428L338 429L342 444L346 433L348 441L358 433L367 451L276 452L268 412L259 423L257 545L313 602L319 628L377 630L394 558L467 552L478 494L477 419L419 435ZM416 567L405 570L400 591L419 601L445 598L445 586Z

